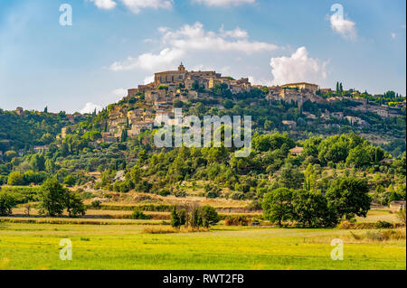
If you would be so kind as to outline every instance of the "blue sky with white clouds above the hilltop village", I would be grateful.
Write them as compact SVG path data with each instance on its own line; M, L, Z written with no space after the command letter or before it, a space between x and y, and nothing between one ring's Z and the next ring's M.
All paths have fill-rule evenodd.
M60 24L60 5L72 25ZM331 6L343 8L331 12ZM405 1L2 0L0 107L105 107L160 70L406 94ZM335 6L334 6L335 7Z

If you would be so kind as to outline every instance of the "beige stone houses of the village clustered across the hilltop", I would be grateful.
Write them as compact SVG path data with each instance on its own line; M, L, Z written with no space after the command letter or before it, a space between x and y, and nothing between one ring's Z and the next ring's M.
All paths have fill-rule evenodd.
M120 142L121 136L138 135L143 129L151 130L154 126L156 116L158 118L164 114L174 116L174 103L176 101L186 102L196 99L212 99L211 89L222 87L229 89L232 95L242 92L251 92L252 89L266 91L265 98L270 105L273 102L297 103L298 108L302 107L306 101L315 103L331 103L344 100L345 97L322 98L318 94L329 93L330 88L319 88L311 83L289 83L281 86L266 87L253 85L247 78L232 79L224 77L215 71L188 71L181 63L178 70L168 70L155 74L154 82L147 85L139 85L137 88L129 88L127 99L137 103L137 107L117 106L109 111L109 118L102 126L105 131L99 142L115 143ZM360 106L352 107L358 111L370 111L383 117L398 116L399 111L385 106L369 105L365 98L358 98L358 93L353 92L352 100L362 103ZM256 103L252 103L256 105ZM403 102L405 106L405 101ZM222 105L216 106L222 109ZM304 114L308 119L315 119L316 116L307 112ZM357 116L344 116L343 113L330 114L328 111L321 115L322 118L347 119L353 125L368 125L363 119ZM295 127L295 121L283 120L283 125ZM66 129L62 129L62 138L66 134ZM124 132L125 131L125 132Z

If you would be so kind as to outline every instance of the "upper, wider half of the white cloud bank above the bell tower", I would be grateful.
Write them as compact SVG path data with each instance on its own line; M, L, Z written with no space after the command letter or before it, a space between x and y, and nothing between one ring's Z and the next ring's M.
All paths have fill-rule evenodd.
M167 30L163 35L163 42L183 51L241 51L251 54L259 51L273 51L278 48L267 42L250 42L247 39L227 40L225 33L235 37L238 34L240 38L243 34L244 37L248 37L248 34L240 28L232 32L206 32L204 25L196 22L192 26L185 24L175 32Z

